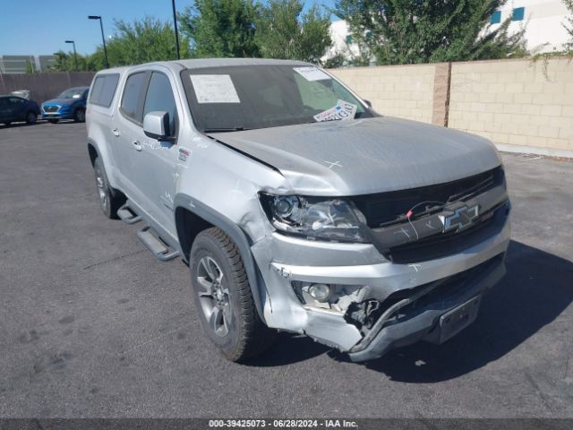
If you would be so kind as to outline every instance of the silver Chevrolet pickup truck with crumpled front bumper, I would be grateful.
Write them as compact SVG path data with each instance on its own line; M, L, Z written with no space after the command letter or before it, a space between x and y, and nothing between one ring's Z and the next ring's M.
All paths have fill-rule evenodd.
M312 64L99 72L87 131L101 209L189 265L201 323L230 360L277 330L354 361L442 343L505 273L510 203L492 143L381 116Z

